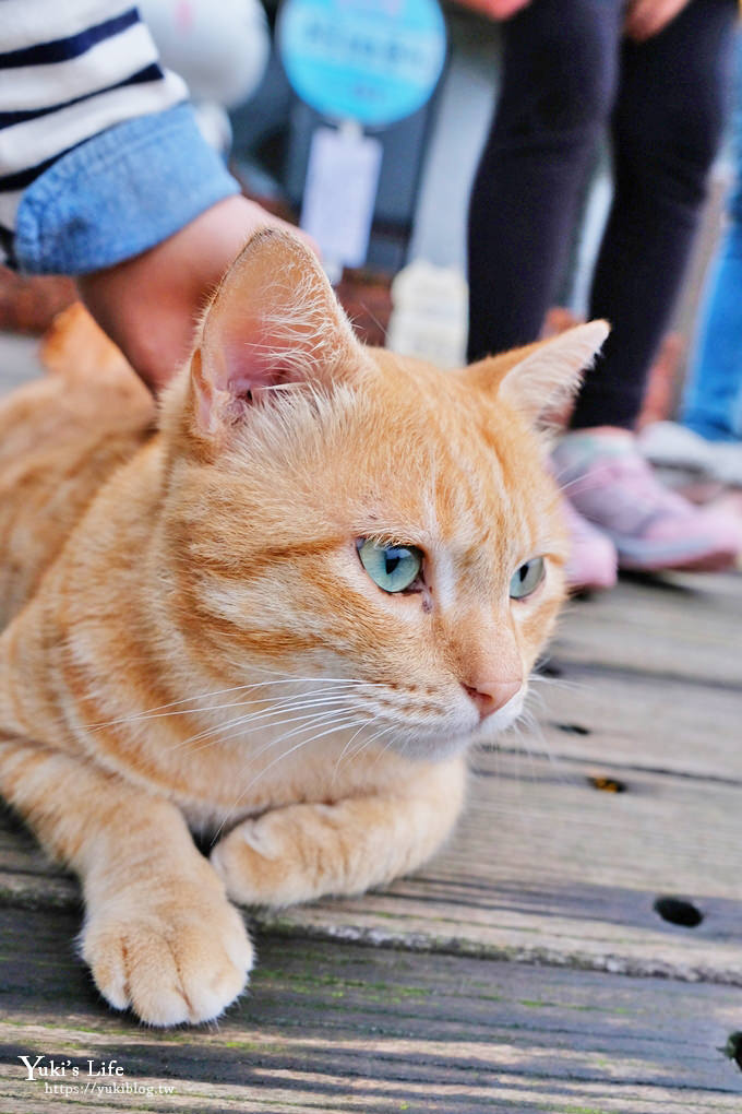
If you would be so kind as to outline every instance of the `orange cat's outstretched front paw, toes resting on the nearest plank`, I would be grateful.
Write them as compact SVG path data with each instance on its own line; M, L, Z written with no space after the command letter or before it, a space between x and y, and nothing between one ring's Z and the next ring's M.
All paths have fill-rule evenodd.
M243 918L221 890L187 889L171 883L167 897L137 888L119 893L82 930L82 957L100 993L149 1025L218 1017L253 966Z

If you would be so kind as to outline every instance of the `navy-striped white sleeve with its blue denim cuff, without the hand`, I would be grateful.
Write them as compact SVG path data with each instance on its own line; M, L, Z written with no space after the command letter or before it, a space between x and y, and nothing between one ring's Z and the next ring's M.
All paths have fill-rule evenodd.
M87 274L238 193L136 7L6 0L0 227L11 266Z

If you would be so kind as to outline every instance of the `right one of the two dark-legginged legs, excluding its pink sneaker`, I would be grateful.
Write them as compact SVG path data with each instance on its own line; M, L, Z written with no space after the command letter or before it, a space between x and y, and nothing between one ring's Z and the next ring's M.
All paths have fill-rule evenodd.
M705 197L729 91L734 0L691 0L654 38L625 41L612 118L614 201L591 316L613 331L573 429L632 429Z

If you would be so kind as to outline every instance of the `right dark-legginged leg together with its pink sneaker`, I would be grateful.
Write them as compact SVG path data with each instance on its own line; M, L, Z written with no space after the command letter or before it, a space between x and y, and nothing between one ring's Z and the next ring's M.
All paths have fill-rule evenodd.
M591 306L613 332L554 460L572 506L612 539L624 568L723 568L742 550L739 524L667 491L631 432L721 130L735 7L692 0L655 38L622 50L615 195Z

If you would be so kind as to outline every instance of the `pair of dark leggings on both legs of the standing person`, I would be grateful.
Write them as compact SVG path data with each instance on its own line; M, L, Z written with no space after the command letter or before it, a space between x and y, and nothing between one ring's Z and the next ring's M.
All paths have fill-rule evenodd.
M572 428L631 428L683 275L726 107L734 0L622 39L623 0L533 0L503 26L503 85L469 208L469 359L534 340L610 124L614 199L590 315L613 332ZM742 294L741 294L742 296Z

